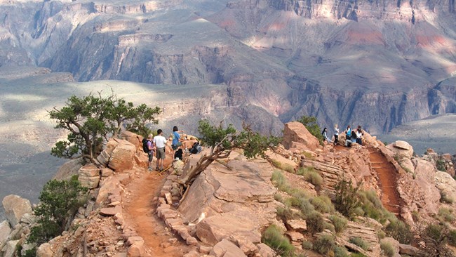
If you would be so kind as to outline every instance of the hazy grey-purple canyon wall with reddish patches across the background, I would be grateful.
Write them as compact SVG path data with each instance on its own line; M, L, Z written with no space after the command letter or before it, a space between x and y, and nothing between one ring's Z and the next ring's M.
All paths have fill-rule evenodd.
M226 84L227 106L260 107L270 124L305 114L382 133L455 111L452 0L0 5L0 67L40 65L78 81Z

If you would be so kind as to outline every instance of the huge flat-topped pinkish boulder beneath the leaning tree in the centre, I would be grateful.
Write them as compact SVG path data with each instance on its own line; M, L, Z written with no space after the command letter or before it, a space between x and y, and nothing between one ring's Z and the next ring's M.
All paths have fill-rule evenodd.
M271 166L256 162L232 160L229 168L211 164L196 178L179 211L187 223L205 214L196 225L201 242L213 246L230 235L260 243L260 231L276 216L276 188L270 181Z

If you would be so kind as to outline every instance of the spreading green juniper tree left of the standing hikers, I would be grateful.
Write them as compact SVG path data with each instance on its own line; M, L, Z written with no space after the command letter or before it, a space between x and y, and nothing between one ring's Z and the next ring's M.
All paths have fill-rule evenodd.
M154 116L160 113L160 108L145 104L134 107L133 103L114 94L103 98L100 92L98 96L90 94L83 98L73 95L64 107L54 107L48 113L57 123L55 129L69 131L67 140L55 143L51 154L60 158L83 157L95 162L103 143L109 136L116 137L121 129L143 136L150 133L145 125L158 123Z

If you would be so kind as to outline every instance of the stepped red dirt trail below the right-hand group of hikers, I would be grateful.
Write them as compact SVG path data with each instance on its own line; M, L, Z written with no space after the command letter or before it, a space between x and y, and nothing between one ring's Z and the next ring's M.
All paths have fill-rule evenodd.
M398 216L401 213L402 200L397 191L396 182L398 175L396 170L381 152L373 147L368 147L368 150L370 163L379 178L380 189L382 190L382 204L388 211Z

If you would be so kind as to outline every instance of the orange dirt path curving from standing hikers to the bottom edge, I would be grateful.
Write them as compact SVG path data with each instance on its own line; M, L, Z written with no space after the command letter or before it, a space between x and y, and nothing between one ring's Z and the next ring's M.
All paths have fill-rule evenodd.
M160 176L156 171L139 173L128 183L126 191L130 194L123 199L125 223L144 239L147 253L154 257L180 257L190 250L156 216L159 192L167 175L164 172Z

